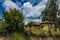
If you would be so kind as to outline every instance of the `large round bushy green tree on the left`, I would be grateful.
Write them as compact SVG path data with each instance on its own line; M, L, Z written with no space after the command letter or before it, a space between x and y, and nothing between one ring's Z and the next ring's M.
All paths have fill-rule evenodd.
M10 9L9 11L3 11L3 18L7 24L8 31L11 33L13 31L23 31L24 26L24 16L22 12L17 9Z

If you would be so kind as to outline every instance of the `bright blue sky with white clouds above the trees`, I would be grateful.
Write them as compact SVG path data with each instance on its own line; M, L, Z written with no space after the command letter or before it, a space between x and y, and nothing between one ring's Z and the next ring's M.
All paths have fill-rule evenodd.
M46 7L47 0L0 0L0 18L2 10L17 8L21 10L25 16L25 22L41 21L38 17Z

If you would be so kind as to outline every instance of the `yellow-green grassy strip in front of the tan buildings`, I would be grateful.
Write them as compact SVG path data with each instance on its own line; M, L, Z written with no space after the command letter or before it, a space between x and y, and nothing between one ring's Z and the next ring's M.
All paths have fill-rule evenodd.
M32 29L31 32L32 32L32 34L34 34L36 36L56 37L56 36L60 36L60 31L57 29L55 30L54 28L49 28L48 30L43 30L42 28L40 28L40 29L35 28L35 29Z

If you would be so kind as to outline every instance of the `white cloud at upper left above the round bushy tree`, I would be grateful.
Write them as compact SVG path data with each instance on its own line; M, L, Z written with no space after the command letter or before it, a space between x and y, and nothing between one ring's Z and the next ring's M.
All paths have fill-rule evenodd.
M16 3L12 2L11 0L5 0L3 3L3 7L5 7L6 10L9 10L10 8L19 9L18 5L16 5Z

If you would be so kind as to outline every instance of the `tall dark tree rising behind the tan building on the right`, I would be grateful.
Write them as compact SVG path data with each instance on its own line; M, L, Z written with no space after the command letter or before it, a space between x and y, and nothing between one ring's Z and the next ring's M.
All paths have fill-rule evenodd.
M42 11L42 21L52 21L57 26L58 0L48 0L46 8Z

